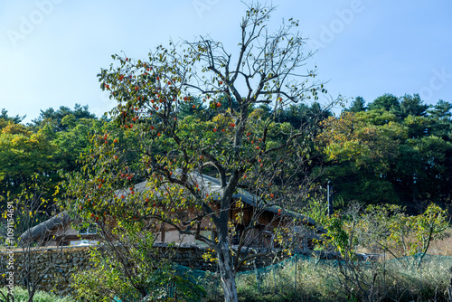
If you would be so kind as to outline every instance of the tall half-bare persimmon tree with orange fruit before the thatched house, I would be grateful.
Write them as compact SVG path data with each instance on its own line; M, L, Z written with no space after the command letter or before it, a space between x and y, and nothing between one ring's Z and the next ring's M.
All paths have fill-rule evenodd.
M238 301L234 277L240 265L260 255L247 248L249 243L275 231L270 223L259 226L259 215L279 209L273 219L279 222L287 212L275 206L296 203L289 193L303 192L309 184L301 175L310 161L311 132L303 125L276 123L278 112L326 93L315 69L307 68L312 53L297 33L297 21L289 19L270 33L274 7L247 7L235 53L200 37L160 45L146 60L112 56L115 63L99 74L100 87L118 100L112 119L139 146L119 147L114 133L93 137L96 146L69 190L74 199L68 207L86 220L155 220L205 242L218 261L226 301ZM215 114L182 119L187 104ZM269 114L256 109L262 105ZM132 154L140 155L133 163ZM203 174L218 179L215 195L193 176ZM141 180L147 180L147 190L134 186ZM258 210L239 232L235 222L243 217L238 213L230 219L230 214L246 206L233 198L241 189L253 194ZM188 209L192 214L181 214ZM202 220L211 222L216 238L202 235ZM276 233L279 244L287 239L287 230ZM238 238L235 250L231 235Z

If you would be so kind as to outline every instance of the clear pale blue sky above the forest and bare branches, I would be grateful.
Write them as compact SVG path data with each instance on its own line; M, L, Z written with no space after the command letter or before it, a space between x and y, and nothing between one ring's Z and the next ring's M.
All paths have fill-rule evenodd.
M270 20L294 17L318 49L312 63L332 98L419 93L452 102L450 0L273 1ZM0 109L36 118L75 103L101 115L115 101L96 75L111 54L146 59L160 43L210 34L237 50L245 5L236 0L0 2ZM339 109L337 109L339 110ZM339 111L337 111L339 112Z

